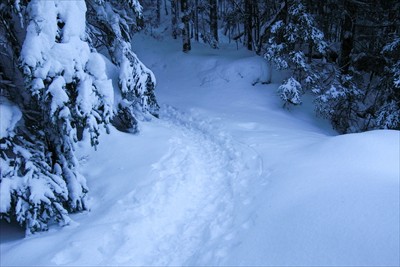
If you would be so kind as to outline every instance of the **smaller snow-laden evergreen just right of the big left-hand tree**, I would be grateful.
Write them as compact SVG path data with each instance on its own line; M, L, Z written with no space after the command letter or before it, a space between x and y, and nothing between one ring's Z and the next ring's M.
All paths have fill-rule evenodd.
M141 6L131 1L88 0L88 31L91 43L106 50L119 67L118 110L114 124L120 130L136 132L137 121L158 116L154 74L131 48L132 34L139 27Z

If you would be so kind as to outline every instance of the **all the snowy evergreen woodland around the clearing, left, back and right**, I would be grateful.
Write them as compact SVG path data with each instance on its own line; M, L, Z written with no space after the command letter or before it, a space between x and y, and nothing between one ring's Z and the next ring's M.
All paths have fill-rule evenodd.
M0 141L2 218L28 232L68 223L87 209L76 145L158 116L155 77L131 48L139 30L180 38L186 53L191 42L222 49L222 37L254 51L288 73L286 108L311 94L340 133L400 129L396 0L139 2L0 3L0 104L18 117Z

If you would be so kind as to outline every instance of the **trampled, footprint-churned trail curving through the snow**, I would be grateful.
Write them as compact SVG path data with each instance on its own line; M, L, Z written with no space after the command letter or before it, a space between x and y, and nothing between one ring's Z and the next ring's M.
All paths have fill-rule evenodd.
M198 114L164 106L160 119L173 131L169 150L152 165L154 182L122 196L98 222L112 221L93 248L99 264L215 265L245 228L235 214L251 202L246 192L262 175L259 156ZM76 249L53 262L67 263L68 250Z

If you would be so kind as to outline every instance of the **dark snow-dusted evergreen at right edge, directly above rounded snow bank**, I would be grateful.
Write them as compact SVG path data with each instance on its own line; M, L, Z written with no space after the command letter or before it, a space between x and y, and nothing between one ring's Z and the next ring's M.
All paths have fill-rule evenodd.
M341 58L330 86L318 92L317 111L342 133L399 129L399 4L345 3Z

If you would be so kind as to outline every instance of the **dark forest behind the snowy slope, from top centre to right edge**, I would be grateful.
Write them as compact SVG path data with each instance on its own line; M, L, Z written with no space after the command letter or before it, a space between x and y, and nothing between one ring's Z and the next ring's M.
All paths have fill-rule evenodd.
M157 2L157 5L154 5ZM220 36L289 70L285 106L315 96L340 133L400 128L400 3L375 0L144 1L147 27L171 14L173 38L218 49Z

